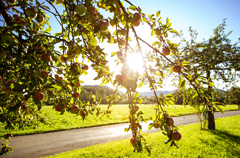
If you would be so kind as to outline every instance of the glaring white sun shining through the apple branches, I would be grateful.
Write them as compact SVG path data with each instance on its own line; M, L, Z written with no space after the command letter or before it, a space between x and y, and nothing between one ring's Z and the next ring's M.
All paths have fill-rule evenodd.
M144 62L142 59L141 54L139 53L129 53L127 56L127 65L133 69L134 71L137 71L139 73L142 73L144 71Z

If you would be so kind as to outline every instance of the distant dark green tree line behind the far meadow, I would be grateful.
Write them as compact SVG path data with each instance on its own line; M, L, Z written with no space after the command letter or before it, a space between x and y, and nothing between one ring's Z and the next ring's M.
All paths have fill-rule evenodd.
M112 88L109 88L107 86L83 86L80 93L80 100L84 102L92 102L93 98L92 96L95 95L96 101L99 104L108 104L108 96L112 95L114 93L114 90ZM237 104L240 105L240 88L239 87L232 87L229 90L220 90L216 89L216 91L213 93L213 101L215 102L221 102L225 104ZM116 93L118 96L118 100L114 101L114 104L128 104L128 98L127 95L123 92L118 91ZM177 105L182 105L184 102L184 97L186 97L185 92L176 90L172 93L174 97L174 103ZM156 98L154 96L142 96L140 95L142 99L142 104L155 104ZM200 101L199 101L200 102Z

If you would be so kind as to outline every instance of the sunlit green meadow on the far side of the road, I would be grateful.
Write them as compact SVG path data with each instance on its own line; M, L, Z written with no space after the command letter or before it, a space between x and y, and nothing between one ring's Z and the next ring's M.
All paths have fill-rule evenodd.
M155 114L153 106L154 104L142 104L139 106L139 110L145 112L144 116L146 119L149 119ZM99 105L99 107L101 109L106 109L107 105ZM170 114L170 116L182 116L197 113L197 110L193 107L182 105L164 107L164 109ZM237 109L237 105L226 105L223 107L224 111ZM97 117L95 114L89 114L83 121L81 116L69 112L60 115L60 112L55 111L52 106L44 106L41 117L45 117L45 123L39 123L36 126L31 126L23 130L15 128L12 131L5 130L4 126L0 123L0 136L7 132L11 132L16 136L128 122L128 118L126 117L129 115L127 104L114 105L111 107L111 110L112 113L109 116L101 118L101 116Z

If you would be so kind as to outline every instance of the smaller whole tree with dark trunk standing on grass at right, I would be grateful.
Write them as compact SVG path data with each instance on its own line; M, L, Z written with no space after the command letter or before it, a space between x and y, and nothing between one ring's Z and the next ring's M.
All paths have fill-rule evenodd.
M216 29L213 37L202 42L196 42L197 32L189 29L191 40L183 40L182 59L188 61L189 71L192 71L191 80L199 84L198 89L206 94L202 98L207 103L204 109L208 116L208 128L215 129L213 92L215 91L214 80L222 82L233 82L239 75L239 46L238 43L231 44L225 33L226 21L224 20ZM201 86L200 86L201 85ZM190 91L192 89L189 89ZM198 94L192 97L197 97ZM217 106L216 106L217 107Z

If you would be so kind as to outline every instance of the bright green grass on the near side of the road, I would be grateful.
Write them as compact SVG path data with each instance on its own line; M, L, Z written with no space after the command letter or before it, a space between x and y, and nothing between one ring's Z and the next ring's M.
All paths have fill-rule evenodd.
M216 130L200 130L199 123L179 126L182 139L179 148L164 144L167 139L161 132L148 134L147 142L152 147L151 155L146 151L133 152L129 139L76 149L44 158L96 158L96 157L211 157L238 158L240 155L240 116L216 119Z

